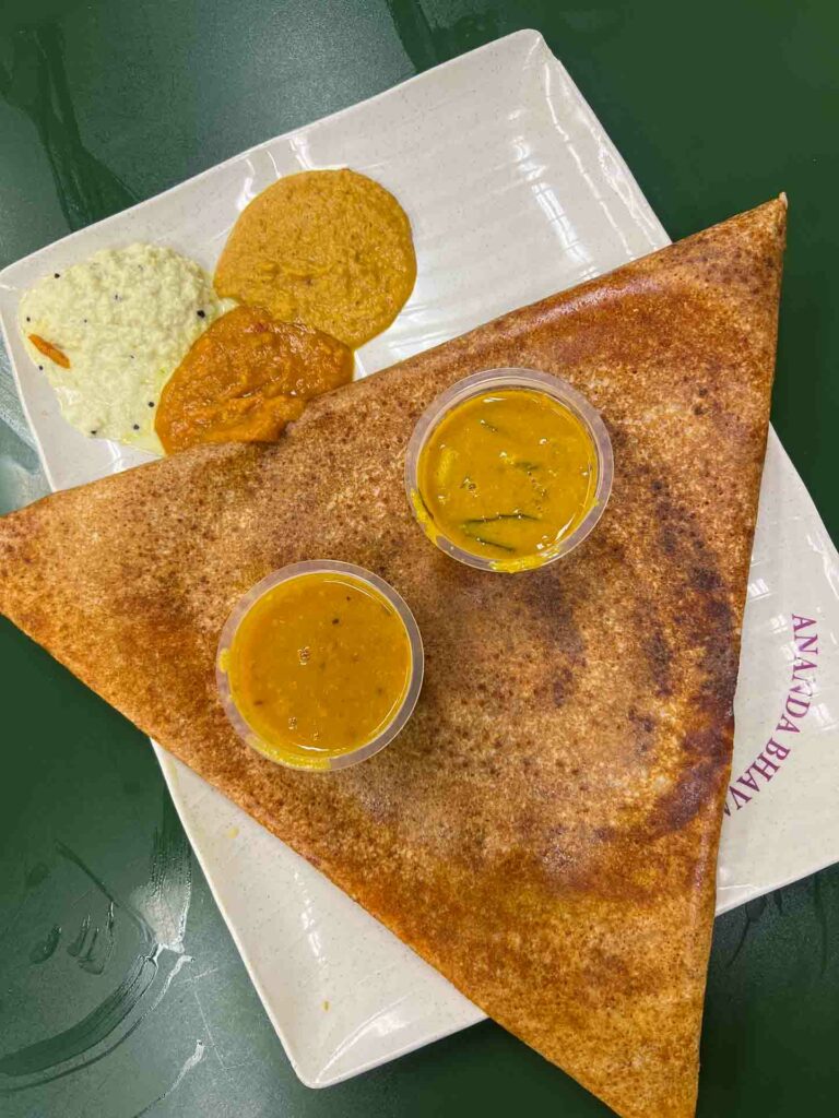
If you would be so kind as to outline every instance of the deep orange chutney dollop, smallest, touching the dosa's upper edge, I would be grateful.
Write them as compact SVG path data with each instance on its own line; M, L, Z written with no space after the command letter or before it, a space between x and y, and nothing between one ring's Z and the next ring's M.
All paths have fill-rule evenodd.
M163 388L154 429L167 454L198 443L270 443L305 401L352 379L352 351L253 306L223 314Z

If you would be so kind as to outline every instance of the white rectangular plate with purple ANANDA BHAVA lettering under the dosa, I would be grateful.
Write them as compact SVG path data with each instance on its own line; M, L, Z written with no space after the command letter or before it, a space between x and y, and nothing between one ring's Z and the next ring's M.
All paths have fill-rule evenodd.
M345 164L383 182L405 206L420 263L416 288L396 323L359 352L361 373L668 244L563 66L537 32L519 31L261 144L7 268L0 314L54 489L145 456L86 439L62 420L18 335L20 292L44 273L133 240L168 244L211 269L239 211L277 176ZM761 200L735 192L732 210ZM720 911L839 860L838 590L836 550L772 436L736 701L737 792L729 793L724 826ZM812 619L800 625L799 653L816 666L798 673L793 614ZM804 644L813 635L818 639ZM800 680L805 686L792 692L788 708L793 729L776 730ZM767 754L773 733L779 748ZM158 756L303 1082L338 1082L481 1020L444 978L289 847L166 752L158 749Z

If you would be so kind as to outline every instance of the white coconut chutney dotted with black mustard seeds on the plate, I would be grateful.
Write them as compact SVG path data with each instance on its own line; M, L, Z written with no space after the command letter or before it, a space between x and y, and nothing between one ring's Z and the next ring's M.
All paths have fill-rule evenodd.
M161 389L230 305L194 260L136 244L45 276L22 296L19 325L68 423L85 435L162 454L154 434ZM31 334L59 350L69 368L34 345Z

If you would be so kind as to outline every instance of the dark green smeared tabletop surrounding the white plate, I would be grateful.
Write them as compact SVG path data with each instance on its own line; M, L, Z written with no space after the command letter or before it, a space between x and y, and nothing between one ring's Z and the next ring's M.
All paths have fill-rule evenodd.
M673 238L788 191L773 419L836 537L835 0L3 0L0 266L524 27L568 67ZM8 362L0 409L8 511L45 490ZM606 1114L489 1022L302 1087L147 740L7 623L0 679L3 1118ZM138 896L151 929L126 922ZM138 976L142 935L160 949ZM717 921L699 1114L837 1114L838 1053L835 866Z

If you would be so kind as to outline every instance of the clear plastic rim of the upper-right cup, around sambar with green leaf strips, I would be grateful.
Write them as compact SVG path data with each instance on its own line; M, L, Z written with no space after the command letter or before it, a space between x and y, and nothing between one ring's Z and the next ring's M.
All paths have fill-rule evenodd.
M573 415L575 415L584 427L588 430L597 456L597 486L594 493L594 502L584 519L577 524L573 532L569 532L557 544L543 556L530 557L532 561L522 561L510 568L497 559L488 559L486 556L474 555L453 543L444 532L434 523L434 518L425 508L420 494L418 467L420 456L428 436L437 424L458 405L463 404L474 396L483 395L487 391L525 388L530 391L545 392L553 399L563 404ZM459 562L478 570L501 571L503 574L520 574L527 570L539 569L548 563L556 562L573 551L588 533L594 529L603 511L606 508L609 495L612 492L612 476L614 473L614 459L612 456L612 440L609 437L606 426L600 414L592 405L571 385L555 377L552 373L541 372L538 369L487 369L483 372L472 373L452 385L451 388L442 392L428 408L422 414L420 420L411 436L407 453L405 456L405 490L408 496L408 504L423 529L432 542L436 543L441 551L456 559Z

